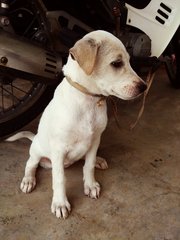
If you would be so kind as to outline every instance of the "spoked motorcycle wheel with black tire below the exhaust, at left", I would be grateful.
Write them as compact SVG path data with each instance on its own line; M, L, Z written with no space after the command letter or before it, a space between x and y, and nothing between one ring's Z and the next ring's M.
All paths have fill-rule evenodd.
M36 118L53 96L55 86L0 76L0 138Z

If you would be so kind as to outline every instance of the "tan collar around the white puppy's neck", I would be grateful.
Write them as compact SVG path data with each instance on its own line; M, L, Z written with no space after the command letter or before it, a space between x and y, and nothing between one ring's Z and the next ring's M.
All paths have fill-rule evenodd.
M85 88L84 86L82 86L81 84L77 83L77 82L74 82L72 81L72 79L68 76L65 76L66 80L68 81L68 83L73 86L74 88L76 88L77 90L79 90L80 92L86 94L86 95L89 95L89 96L92 96L92 97L98 97L100 98L98 101L97 101L97 105L100 107L103 105L103 102L106 100L106 96L102 95L102 94L95 94L95 93L91 93L88 91L87 88Z

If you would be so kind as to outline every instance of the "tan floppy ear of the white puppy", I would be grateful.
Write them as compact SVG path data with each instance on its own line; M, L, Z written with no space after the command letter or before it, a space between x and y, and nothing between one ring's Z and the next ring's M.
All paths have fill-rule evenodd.
M72 58L78 62L87 75L93 72L98 47L94 39L81 39L69 50Z

